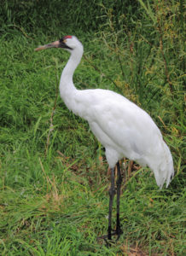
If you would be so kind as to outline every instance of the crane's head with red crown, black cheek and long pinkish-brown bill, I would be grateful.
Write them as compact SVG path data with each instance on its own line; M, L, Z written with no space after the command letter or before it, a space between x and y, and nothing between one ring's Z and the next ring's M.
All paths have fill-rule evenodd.
M63 48L63 49L67 49L67 51L72 53L73 50L75 49L83 49L83 45L78 41L78 38L76 38L75 36L66 36L53 43L39 46L35 50L38 51L41 49L49 49L49 48Z

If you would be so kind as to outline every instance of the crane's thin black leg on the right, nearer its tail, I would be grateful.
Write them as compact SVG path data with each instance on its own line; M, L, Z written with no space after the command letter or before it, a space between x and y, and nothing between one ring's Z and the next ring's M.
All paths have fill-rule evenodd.
M117 240L119 239L119 236L122 234L122 230L120 229L120 219L119 219L119 199L120 199L120 188L122 183L122 177L121 177L121 171L119 162L117 163L117 170L118 170L118 178L117 178L117 218L116 218L116 234L118 235Z

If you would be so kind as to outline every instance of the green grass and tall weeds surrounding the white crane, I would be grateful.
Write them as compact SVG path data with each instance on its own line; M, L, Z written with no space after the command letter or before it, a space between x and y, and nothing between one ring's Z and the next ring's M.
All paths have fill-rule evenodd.
M1 1L1 255L185 255L184 15L183 0ZM112 247L97 240L108 226L104 150L58 94L69 55L34 52L67 34L84 44L78 89L136 102L174 160L162 190L124 160L124 234Z

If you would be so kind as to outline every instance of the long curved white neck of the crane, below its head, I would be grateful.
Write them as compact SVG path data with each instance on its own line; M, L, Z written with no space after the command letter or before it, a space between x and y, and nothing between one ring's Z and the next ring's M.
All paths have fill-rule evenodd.
M66 104L70 101L71 96L74 94L74 90L77 90L73 84L73 73L81 61L83 51L82 45L80 45L80 47L77 49L73 49L71 56L67 61L67 65L61 73L60 95ZM70 106L67 107L69 108Z

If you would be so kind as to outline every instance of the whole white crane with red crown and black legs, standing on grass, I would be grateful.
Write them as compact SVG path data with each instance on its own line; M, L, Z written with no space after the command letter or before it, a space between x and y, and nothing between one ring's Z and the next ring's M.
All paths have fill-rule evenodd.
M75 36L66 36L35 50L63 48L70 52L70 58L61 73L60 94L67 108L88 121L91 131L105 148L108 166L111 168L111 188L109 190L108 237L122 233L119 221L119 195L121 174L119 160L126 157L141 166L148 166L153 172L157 185L162 188L171 182L174 174L170 149L167 147L153 119L142 108L111 90L77 90L73 84L73 73L81 61L83 45ZM114 176L117 165L117 223L112 233L111 218Z

